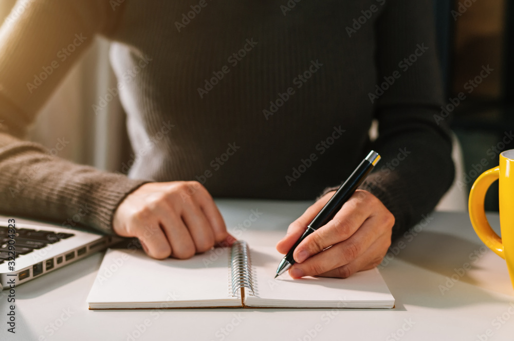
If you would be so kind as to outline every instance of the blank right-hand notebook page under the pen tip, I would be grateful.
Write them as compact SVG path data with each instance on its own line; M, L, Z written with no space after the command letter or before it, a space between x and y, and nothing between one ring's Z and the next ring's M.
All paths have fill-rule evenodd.
M288 272L273 279L283 255L272 247L250 245L255 296L245 291L245 305L291 308L392 308L394 298L378 270L348 278L304 277Z

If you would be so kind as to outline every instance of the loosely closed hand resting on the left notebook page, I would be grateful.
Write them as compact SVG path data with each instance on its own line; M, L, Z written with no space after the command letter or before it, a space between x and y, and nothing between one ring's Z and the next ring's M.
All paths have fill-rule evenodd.
M144 251L158 259L190 258L235 241L209 192L195 181L142 185L116 209L113 229L139 238Z

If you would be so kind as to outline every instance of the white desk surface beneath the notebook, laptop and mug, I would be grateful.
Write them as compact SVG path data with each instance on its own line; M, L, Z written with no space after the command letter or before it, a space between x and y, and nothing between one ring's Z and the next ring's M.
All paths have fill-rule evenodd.
M229 230L250 245L274 245L308 206L255 200L217 203ZM262 215L251 226L246 222L246 230L234 230L245 224L252 209ZM99 253L16 288L15 335L6 331L4 291L0 340L512 340L514 290L505 261L489 250L481 253L482 243L466 214L433 217L418 235L403 240L400 246L405 247L381 270L396 299L392 310L90 311L85 299L102 260ZM499 225L498 215L489 218ZM264 238L259 230L277 231L276 237ZM470 257L473 252L480 257ZM465 263L470 270L458 271ZM458 280L447 285L452 275ZM141 290L152 280L157 279L141 274Z

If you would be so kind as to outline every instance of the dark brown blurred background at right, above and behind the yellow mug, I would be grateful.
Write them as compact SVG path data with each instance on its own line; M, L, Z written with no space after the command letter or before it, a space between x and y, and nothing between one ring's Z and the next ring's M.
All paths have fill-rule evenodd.
M464 167L458 176L467 197L476 177L499 164L499 153L514 149L514 5L437 1L436 9L447 102L460 92L466 95L455 107L452 129L462 147ZM492 71L483 78L487 66ZM498 182L489 189L485 208L498 211Z

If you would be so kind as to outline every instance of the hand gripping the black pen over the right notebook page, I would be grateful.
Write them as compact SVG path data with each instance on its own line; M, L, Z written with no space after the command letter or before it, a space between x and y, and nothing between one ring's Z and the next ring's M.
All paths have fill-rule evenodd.
M307 225L334 195L328 192L287 229L277 250L286 254ZM293 278L324 276L346 278L382 262L394 225L393 214L373 194L357 190L325 226L311 233L293 253L297 262L289 269Z

